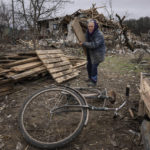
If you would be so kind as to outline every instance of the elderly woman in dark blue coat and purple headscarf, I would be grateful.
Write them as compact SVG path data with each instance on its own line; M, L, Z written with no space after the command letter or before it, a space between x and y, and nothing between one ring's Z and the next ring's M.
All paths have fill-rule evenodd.
M96 21L90 20L88 22L86 42L80 42L80 45L85 47L87 51L87 72L89 78L89 86L96 86L97 67L102 61L104 61L105 57L104 37L98 28L99 27Z

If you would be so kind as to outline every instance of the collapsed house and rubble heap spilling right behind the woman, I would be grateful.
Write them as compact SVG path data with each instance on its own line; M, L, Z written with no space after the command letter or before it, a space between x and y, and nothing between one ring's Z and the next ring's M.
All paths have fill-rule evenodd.
M87 31L87 21L89 19L95 19L104 35L107 50L115 49L119 51L124 49L126 51L130 49L134 51L134 49L139 46L145 48L145 44L138 44L140 38L131 33L124 24L125 16L121 18L116 14L116 20L108 19L102 13L99 13L99 8L103 7L96 7L96 5L93 5L90 9L79 9L71 15L39 21L40 35L42 37L44 37L44 35L48 37L46 40L45 38L43 38L43 41L40 40L40 45L51 46L51 44L53 45L55 43L54 45L56 46L56 43L59 43L59 47L62 44L74 47L75 44L77 45L79 42L79 35L77 35L75 30L79 30L79 34L83 32L81 41L85 40L83 36L85 37L85 32ZM77 20L78 24L75 23ZM48 28L45 28L46 23L49 24ZM53 24L57 25L58 28L53 29ZM74 28L75 26L76 29ZM50 33L47 32L48 29L50 29ZM59 48L58 46L56 47Z

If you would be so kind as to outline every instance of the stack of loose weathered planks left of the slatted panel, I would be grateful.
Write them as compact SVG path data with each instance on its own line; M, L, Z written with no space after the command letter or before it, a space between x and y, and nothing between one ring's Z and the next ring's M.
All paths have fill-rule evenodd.
M13 91L14 81L33 75L36 72L39 74L39 67L42 66L42 62L35 52L5 55L1 56L0 60L0 96ZM46 71L44 66L43 68Z

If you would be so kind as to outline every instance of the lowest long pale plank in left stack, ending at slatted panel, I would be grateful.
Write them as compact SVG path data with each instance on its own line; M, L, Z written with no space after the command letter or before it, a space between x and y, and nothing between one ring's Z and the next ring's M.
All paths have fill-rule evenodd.
M31 70L25 71L23 73L19 73L17 75L14 75L11 78L14 79L14 80L19 80L19 79L31 76L35 73L41 73L41 72L46 72L46 67L43 66L43 65L39 66L39 67L36 67L34 69L31 69Z

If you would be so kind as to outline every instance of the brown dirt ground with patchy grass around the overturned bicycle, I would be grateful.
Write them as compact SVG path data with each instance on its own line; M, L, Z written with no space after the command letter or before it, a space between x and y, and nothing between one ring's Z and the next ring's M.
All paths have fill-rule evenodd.
M131 118L128 108L119 112L119 117L113 119L112 112L90 112L89 122L80 135L73 142L60 150L143 150L139 137L141 121L137 117L138 101L140 95L137 87L140 82L140 73L137 67L123 64L116 59L124 59L129 56L107 56L106 61L99 66L98 87L114 90L117 93L115 105L123 101L120 97L125 94L127 84L131 86L130 102L135 115ZM116 70L114 65L119 64ZM124 69L123 69L124 68ZM135 70L134 70L134 69ZM80 75L64 85L75 87L87 86L86 67L80 69ZM0 149L2 150L38 150L28 145L20 133L18 127L18 115L25 99L44 87L55 82L51 77L39 77L38 79L25 80L17 83L14 93L0 100ZM89 100L88 103L99 106L100 102Z

